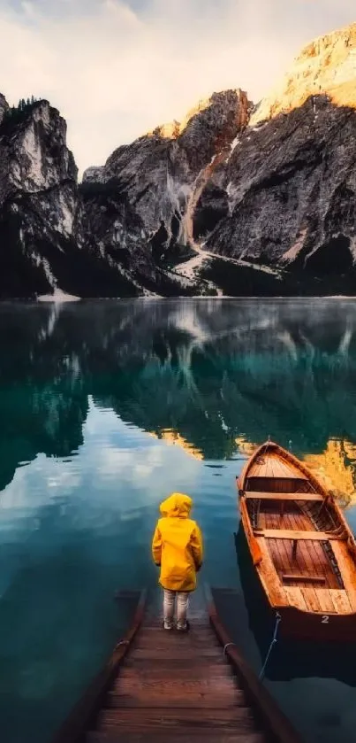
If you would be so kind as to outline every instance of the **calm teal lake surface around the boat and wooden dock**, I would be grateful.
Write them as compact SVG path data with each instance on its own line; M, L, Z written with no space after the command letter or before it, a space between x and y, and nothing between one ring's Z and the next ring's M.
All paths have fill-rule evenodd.
M154 588L150 540L172 490L193 496L201 580L239 592L260 669L235 476L269 435L292 442L356 528L356 302L9 304L0 340L2 743L49 743L124 622L113 593ZM356 668L345 683L303 657L294 676L275 662L269 689L307 743L351 743Z

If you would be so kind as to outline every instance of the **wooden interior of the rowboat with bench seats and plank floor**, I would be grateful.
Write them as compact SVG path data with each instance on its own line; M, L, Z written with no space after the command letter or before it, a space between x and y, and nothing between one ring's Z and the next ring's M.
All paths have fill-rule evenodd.
M253 462L245 487L254 536L268 550L287 595L291 593L292 600L292 589L299 588L297 603L302 596L303 608L339 611L340 602L336 605L329 600L329 589L345 593L339 564L346 551L346 535L332 500L317 492L292 462L270 453ZM325 594L325 601L316 601L317 606L315 589ZM353 610L345 595L343 605L344 611Z

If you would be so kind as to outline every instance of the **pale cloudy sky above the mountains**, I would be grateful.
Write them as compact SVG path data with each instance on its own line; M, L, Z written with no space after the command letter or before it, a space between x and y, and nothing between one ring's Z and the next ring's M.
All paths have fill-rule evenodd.
M48 98L80 175L200 98L255 103L355 0L0 0L0 92Z

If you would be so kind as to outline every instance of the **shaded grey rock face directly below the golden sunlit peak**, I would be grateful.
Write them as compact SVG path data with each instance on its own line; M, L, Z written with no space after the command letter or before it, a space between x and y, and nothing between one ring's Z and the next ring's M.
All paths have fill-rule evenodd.
M307 100L251 130L224 174L231 213L208 248L314 275L356 257L356 112Z

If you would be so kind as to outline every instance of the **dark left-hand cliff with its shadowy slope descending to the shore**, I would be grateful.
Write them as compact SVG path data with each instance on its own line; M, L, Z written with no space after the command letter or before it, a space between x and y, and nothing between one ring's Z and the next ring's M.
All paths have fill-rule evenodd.
M66 124L48 101L0 100L0 298L58 291L134 294L133 282L87 250Z

